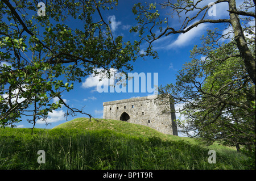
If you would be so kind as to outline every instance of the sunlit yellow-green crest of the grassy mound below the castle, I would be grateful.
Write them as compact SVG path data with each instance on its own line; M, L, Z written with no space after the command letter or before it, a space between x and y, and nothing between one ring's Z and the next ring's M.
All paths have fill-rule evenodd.
M119 121L119 120L97 119L96 121L92 119L91 121L89 121L89 118L80 117L80 118L73 119L71 121L67 121L63 124L57 125L53 129L56 129L56 128L64 128L64 129L75 128L75 129L81 129L86 131L110 130L117 133L128 134L130 136L137 136L137 137L144 137L144 138L159 137L162 140L185 141L185 142L189 142L189 144L201 145L201 143L197 141L195 138L163 134L159 131L156 131L155 129L146 127L144 125L127 123L126 121ZM235 148L221 146L221 145L218 145L217 143L211 146L208 146L208 148L236 153Z

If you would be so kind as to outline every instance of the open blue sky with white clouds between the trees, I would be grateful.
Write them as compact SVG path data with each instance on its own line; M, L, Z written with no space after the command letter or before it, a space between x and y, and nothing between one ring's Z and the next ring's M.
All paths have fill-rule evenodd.
M135 16L131 9L134 3L138 1L119 1L119 5L117 9L104 11L103 15L106 20L110 20L112 22L110 27L112 29L114 36L123 36L124 41L130 40L133 42L135 39L138 40L137 33L130 33L129 30L132 26L136 25ZM209 2L205 0L203 3L207 5ZM237 1L238 5L242 1ZM221 18L229 18L228 12L228 3L221 3L221 5L217 6L216 16L211 16L208 18L213 19L221 19ZM102 11L103 12L103 11ZM168 9L159 9L160 14L164 16L168 16L168 24L169 26L178 28L183 20L179 20L179 18L174 17L171 19L170 15L167 15ZM196 21L196 20L195 20ZM68 22L72 23L72 22ZM255 22L254 22L255 23ZM76 23L71 24L72 26L77 26ZM153 59L152 57L138 58L137 61L131 62L133 64L133 73L158 73L158 85L166 85L167 83L175 83L176 74L179 70L182 69L182 65L190 61L189 59L189 50L192 50L194 45L200 45L200 37L203 34L207 33L207 28L214 28L218 26L221 32L225 32L228 30L224 30L224 26L221 24L201 24L193 30L181 34L181 35L169 35L166 37L162 37L155 41L153 45L153 49L158 51L159 58ZM142 49L146 48L146 44L142 44ZM152 77L153 79L153 77ZM96 118L102 118L103 116L103 102L108 102L112 100L119 99L129 99L137 96L147 96L152 95L153 92L98 92L96 86L98 84L98 77L93 77L93 75L89 75L88 77L82 78L82 83L75 82L75 89L64 92L62 98L65 102L75 108L84 107L84 112L90 113ZM57 101L57 99L53 99L53 101ZM56 125L64 123L66 118L63 114L67 110L62 107L58 110L49 112L47 122L51 123L51 125L46 126L46 124L40 123L39 121L36 123L35 128L53 128ZM86 117L85 115L78 114L75 117L69 116L68 120L75 119L76 117ZM16 124L17 127L21 128L31 128L32 125L27 123L24 118L23 121Z

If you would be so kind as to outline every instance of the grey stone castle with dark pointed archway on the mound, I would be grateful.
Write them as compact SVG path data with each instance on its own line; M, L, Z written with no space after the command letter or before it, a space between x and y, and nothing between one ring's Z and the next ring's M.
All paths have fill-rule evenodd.
M177 135L174 104L161 104L157 95L104 102L104 119L146 125L164 134ZM169 110L168 113L163 113Z

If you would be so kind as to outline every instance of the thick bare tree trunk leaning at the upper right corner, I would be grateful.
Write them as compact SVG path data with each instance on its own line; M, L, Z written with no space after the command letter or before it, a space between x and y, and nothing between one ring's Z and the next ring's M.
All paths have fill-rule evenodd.
M251 51L247 46L245 35L243 35L243 30L240 24L240 19L237 14L233 13L234 11L237 11L236 0L229 0L229 11L232 11L229 12L229 16L237 47L243 58L243 62L245 62L246 71L255 85L255 60L253 58L253 54L251 54Z

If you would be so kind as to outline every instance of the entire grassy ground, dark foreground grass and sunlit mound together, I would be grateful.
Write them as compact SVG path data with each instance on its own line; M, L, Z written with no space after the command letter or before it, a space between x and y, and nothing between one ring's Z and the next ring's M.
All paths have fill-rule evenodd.
M216 150L216 164L208 151ZM39 164L38 150L46 152ZM0 169L247 169L230 148L123 121L80 118L54 129L0 128Z

